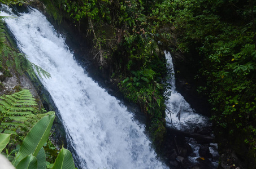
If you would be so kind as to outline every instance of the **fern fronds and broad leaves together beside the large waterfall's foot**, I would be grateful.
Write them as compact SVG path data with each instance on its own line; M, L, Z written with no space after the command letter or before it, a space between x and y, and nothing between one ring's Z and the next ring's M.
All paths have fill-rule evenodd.
M12 159L16 168L45 169L46 153L44 146L49 144L49 135L55 118L54 112L37 114L39 111L36 106L38 105L29 90L21 90L12 95L1 96L0 99L0 127L2 128L0 152L4 150L7 158ZM28 134L24 132L30 128ZM25 139L17 139L18 136L26 134ZM11 137L11 135L15 136ZM19 144L21 144L20 148L18 147ZM6 145L8 149L5 149ZM14 145L16 149L14 149ZM17 151L19 152L16 153ZM15 154L13 158L12 153ZM51 168L51 166L65 169L75 168L70 151L62 148L55 163L49 163L47 168Z

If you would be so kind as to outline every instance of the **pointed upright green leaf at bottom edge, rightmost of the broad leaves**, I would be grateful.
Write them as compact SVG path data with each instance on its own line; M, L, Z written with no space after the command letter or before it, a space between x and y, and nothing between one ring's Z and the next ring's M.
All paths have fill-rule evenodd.
M62 148L51 169L75 169L71 152Z

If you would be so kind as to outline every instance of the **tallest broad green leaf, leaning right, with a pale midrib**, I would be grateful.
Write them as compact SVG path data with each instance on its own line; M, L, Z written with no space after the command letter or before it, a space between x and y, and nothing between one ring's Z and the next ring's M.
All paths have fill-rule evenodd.
M48 115L38 121L25 137L19 153L16 155L14 166L29 154L37 156L39 150L46 143L55 115Z

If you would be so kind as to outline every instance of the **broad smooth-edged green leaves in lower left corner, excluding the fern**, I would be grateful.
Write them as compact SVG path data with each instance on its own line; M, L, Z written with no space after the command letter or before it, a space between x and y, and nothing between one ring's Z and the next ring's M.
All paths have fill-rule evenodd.
M12 163L16 168L46 168L46 154L42 147L48 140L55 115L47 115L40 119L25 137L18 154ZM8 144L11 134L0 134L0 148ZM47 167L49 168L49 167ZM67 149L62 148L53 164L53 168L75 169L73 158Z

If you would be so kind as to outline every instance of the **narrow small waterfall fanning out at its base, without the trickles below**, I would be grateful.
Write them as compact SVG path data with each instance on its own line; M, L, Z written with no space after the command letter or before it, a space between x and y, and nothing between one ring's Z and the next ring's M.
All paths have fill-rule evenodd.
M171 95L166 101L166 121L167 125L175 126L179 130L193 131L194 127L209 126L209 119L201 114L197 114L184 97L176 91L175 76L170 52L164 52L167 59L168 74L171 78L168 83L171 85ZM167 91L168 92L168 91ZM171 113L169 112L171 111Z

